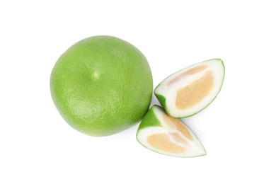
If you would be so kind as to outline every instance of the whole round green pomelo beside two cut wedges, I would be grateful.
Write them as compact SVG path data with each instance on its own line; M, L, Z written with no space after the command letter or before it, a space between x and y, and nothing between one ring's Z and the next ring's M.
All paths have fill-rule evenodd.
M64 120L92 136L107 136L137 124L151 103L153 81L146 57L111 36L72 45L52 69L52 100Z

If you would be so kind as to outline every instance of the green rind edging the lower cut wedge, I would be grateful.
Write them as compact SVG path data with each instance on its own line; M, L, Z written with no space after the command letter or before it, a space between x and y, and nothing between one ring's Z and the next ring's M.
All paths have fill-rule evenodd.
M139 142L139 139L138 139L138 134L139 134L139 131L144 129L144 128L147 128L147 127L161 127L161 122L159 121L158 117L155 115L155 112L154 112L154 109L155 108L161 108L159 105L153 105L148 113L146 113L146 115L144 116L142 122L140 123L139 127L138 127L138 130L137 130L137 133L136 133L136 139L137 141ZM163 110L163 108L161 108ZM163 110L164 111L164 110ZM165 113L165 111L164 111ZM142 146L144 146L146 149L150 149L148 147L146 147L144 144L142 144L141 142L139 142L139 144L141 144ZM158 154L162 154L162 153L159 153L153 149L150 149L151 151L154 151ZM206 153L206 151L205 151ZM166 155L166 154L163 154L163 155ZM202 155L197 155L197 156L204 156L206 154L202 154ZM167 156L171 156L171 155L167 155ZM192 157L197 157L197 156L192 156ZM178 157L178 156L173 156L173 157ZM181 156L179 156L180 158L183 158Z

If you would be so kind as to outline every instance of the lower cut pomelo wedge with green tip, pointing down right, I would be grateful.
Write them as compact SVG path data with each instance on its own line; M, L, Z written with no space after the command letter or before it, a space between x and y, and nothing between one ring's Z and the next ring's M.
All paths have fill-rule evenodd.
M195 134L183 122L154 105L144 116L137 130L137 141L159 154L178 157L205 155L205 149Z

